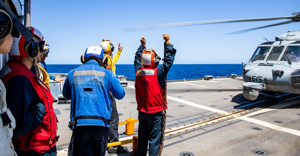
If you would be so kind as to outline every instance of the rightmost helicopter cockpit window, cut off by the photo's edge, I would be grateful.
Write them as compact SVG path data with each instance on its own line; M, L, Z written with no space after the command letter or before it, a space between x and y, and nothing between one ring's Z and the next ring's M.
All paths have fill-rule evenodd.
M285 55L282 56L280 61L300 63L300 46L288 46Z

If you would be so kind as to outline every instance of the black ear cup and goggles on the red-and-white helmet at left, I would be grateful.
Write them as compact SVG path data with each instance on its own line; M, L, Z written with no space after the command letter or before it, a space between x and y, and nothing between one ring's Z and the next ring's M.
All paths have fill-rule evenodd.
M44 50L44 45L45 41L41 40L40 42L35 42L35 41L25 41L24 45L27 47L27 55L31 58L35 57L38 55L38 52L43 52Z

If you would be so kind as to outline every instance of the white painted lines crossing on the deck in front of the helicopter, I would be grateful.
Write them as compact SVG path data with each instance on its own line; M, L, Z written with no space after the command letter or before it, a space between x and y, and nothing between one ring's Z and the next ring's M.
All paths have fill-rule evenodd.
M203 106L203 105L195 104L195 103L192 103L192 102L189 102L189 101L181 100L181 99L178 99L178 98L173 98L173 97L170 97L170 96L167 96L167 98L170 99L170 100L181 102L183 104L187 104L187 105L190 105L190 106L198 107L198 108L201 108L201 109L204 109L204 110L209 110L209 111L216 112L216 113L222 113L222 114L228 114L229 113L229 112L226 112L226 111L223 111L223 110L218 110L218 109L215 109L215 108L206 107L206 106ZM235 116L235 119L241 119L241 120L253 122L253 123L256 123L256 124L268 127L268 128L272 128L274 130L283 131L283 132L286 132L286 133L290 133L290 134L294 134L294 135L300 136L300 131L289 129L289 128L280 127L280 126L277 126L277 125L274 125L274 124L270 124L268 122L264 122L264 121L260 121L260 120L257 120L257 119L253 119L253 118L247 117L247 116L253 116L253 115L256 115L256 114L260 114L260 113L265 113L265 112L269 112L269 111L272 111L272 110L276 110L276 107L277 108L287 107L287 106L292 105L293 103L296 103L296 102L297 101L291 102L289 104L278 104L278 105L275 105L275 106L272 106L272 107L269 107L269 108L265 108L263 110L259 110L259 111L247 114L245 116L239 116L239 115L237 115L237 116ZM275 108L275 109L273 109L273 108ZM232 120L235 120L235 119L232 119Z

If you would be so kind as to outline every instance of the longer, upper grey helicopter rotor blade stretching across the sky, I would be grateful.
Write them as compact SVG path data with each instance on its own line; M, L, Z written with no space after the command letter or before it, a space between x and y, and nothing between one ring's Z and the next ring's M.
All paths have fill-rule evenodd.
M180 22L180 23L169 23L169 24L157 24L157 25L150 25L150 26L138 26L138 27L123 28L123 29L125 32L137 32L137 31L142 31L142 30L170 28L170 27L179 27L179 26L192 26L192 25L200 25L200 24L224 23L224 22L269 21L269 20L278 20L278 19L292 19L292 21L298 22L299 17L300 17L300 14L298 13L295 15L282 16L282 17L223 19L223 20L209 20L209 21L195 21L195 22Z

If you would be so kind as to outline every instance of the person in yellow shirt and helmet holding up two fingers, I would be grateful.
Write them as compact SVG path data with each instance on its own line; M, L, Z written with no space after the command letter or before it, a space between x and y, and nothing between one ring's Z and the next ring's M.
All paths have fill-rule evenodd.
M120 43L118 43L119 50L117 54L115 55L114 58L112 57L112 52L114 51L114 45L111 43L109 40L102 40L103 42L101 43L101 48L104 49L104 55L108 58L108 64L106 69L110 69L114 72L116 75L116 66L115 64L117 63L120 54L122 52L123 46L120 46ZM105 57L104 56L104 57ZM110 67L109 67L110 66ZM116 104L116 99L114 96L111 96L111 119L110 119L111 126L109 127L109 143L117 142L119 141L119 133L118 133L118 128L119 128L119 113L117 111L117 104ZM107 148L108 153L126 153L127 148L123 147L121 145L118 146L111 146Z

